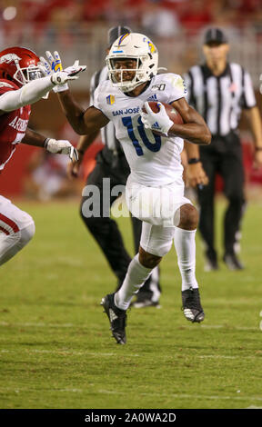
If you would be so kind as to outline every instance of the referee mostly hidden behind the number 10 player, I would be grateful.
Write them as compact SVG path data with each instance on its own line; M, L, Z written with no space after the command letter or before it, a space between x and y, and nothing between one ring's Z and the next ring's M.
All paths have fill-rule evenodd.
M130 28L126 26L115 26L108 31L108 50L111 45L120 35L131 33ZM93 104L94 92L98 84L108 79L107 67L97 71L93 74L90 83L90 105ZM81 136L77 144L79 153L79 161L77 164L68 165L69 175L77 175L79 166L83 160L86 148L93 143L97 134L88 136ZM102 141L105 144L103 150L96 156L96 167L94 171L88 176L86 185L96 185L99 188L101 212L103 209L103 179L110 178L110 206L115 202L117 196L111 194L111 189L115 185L126 185L126 179L130 174L129 166L126 162L125 154L122 150L121 144L116 139L115 127L110 122L101 129ZM104 194L105 196L105 194ZM112 220L110 216L103 217L86 217L82 209L86 202L86 197L82 198L81 202L81 217L86 224L89 232L94 236L96 242L99 244L106 259L117 277L117 289L123 283L128 264L131 262L130 255L126 252L126 248L117 227L116 221ZM106 199L106 197L105 197ZM136 253L138 252L140 235L142 230L142 222L132 216L133 235ZM159 284L159 268L156 267L151 276L147 279L144 286L139 290L136 295L136 308L146 306L157 306L160 297L160 284Z

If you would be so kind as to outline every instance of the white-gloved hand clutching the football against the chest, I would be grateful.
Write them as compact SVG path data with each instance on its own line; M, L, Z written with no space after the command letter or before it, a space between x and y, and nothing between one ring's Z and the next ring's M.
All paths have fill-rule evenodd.
M152 129L152 131L161 132L162 134L168 134L170 127L173 125L172 120L169 119L166 114L166 109L163 104L157 103L159 112L154 113L149 104L145 103L146 113L141 112L141 120L146 129Z

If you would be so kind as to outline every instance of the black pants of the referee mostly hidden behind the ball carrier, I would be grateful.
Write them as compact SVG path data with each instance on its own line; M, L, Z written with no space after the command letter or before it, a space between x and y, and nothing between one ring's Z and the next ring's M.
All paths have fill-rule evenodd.
M114 155L105 147L99 154L97 154L96 167L94 171L88 176L86 182L86 185L96 185L96 187L99 189L100 200L98 204L100 204L101 214L97 217L86 217L85 203L88 199L88 196L82 197L80 205L80 214L84 223L86 224L87 229L96 239L96 242L99 244L100 248L106 256L110 267L116 274L118 279L117 289L121 286L125 279L127 267L132 258L130 257L129 253L126 252L125 244L116 221L110 218L109 208L118 197L117 195L112 195L112 188L119 184L126 185L126 180L129 174L130 169L126 162L125 155ZM110 189L108 187L106 188L106 194L104 194L104 178L110 178ZM103 206L103 202L105 200L106 203L109 202L108 206ZM106 212L107 208L107 216L103 216L102 213ZM142 222L134 216L132 216L131 219L135 251L138 253ZM155 292L158 294L158 291L160 292L159 270L157 274L152 274L147 279L144 286L139 290L139 293L145 293L145 297L152 298Z

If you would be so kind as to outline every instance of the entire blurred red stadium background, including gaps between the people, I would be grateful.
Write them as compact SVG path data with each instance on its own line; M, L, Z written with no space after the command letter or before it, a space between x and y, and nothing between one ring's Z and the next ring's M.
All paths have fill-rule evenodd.
M90 77L105 64L106 35L111 26L129 25L133 31L152 37L159 49L159 65L176 74L183 74L201 58L206 28L220 26L229 36L230 60L247 67L259 96L261 0L1 0L0 24L3 49L23 45L35 50L37 55L45 54L45 50L58 50L64 65L71 65L75 59L87 65L87 72L74 84L76 98L86 106ZM258 106L261 109L261 102ZM50 94L47 101L35 104L31 117L31 127L46 136L76 143L77 135L66 124L54 94ZM252 169L251 136L244 120L241 131L247 184L262 184L261 173ZM86 154L83 179L94 167L94 156L100 148L100 142L96 141ZM16 150L13 161L1 176L2 194L25 192L33 196L28 176L30 182L32 168L36 167L34 156L38 155L35 151L39 152L23 145ZM59 169L57 164L55 167ZM13 168L15 175L11 172ZM219 181L217 189L221 189ZM74 193L74 189L71 190ZM80 187L75 190L80 191Z

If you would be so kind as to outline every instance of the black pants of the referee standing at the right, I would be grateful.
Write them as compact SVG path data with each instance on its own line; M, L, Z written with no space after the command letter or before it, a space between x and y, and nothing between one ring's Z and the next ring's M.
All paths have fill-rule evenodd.
M216 174L221 174L224 181L224 194L228 206L224 218L224 250L234 253L236 234L244 211L244 166L242 147L237 134L213 136L211 144L200 147L200 158L208 176L209 183L198 191L200 217L198 229L207 244L207 256L217 259L215 249L215 182Z

